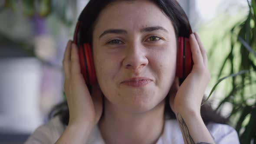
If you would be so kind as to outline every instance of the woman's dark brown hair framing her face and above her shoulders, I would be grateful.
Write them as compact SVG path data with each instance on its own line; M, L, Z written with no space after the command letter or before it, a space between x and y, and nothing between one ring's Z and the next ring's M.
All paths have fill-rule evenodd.
M81 23L80 27L80 36L79 43L90 43L92 46L92 32L97 21L99 14L102 10L110 5L120 0L90 0L85 9L82 11L79 16L79 22ZM123 1L134 1L134 0L123 0ZM155 3L163 13L168 16L174 26L176 38L178 36L189 37L189 22L187 20L186 14L181 6L177 3L176 0L151 0ZM90 86L88 85L90 88ZM169 118L176 118L174 112L171 110L169 105L169 98L166 97L165 100L165 115ZM52 118L56 115L59 115L61 121L64 125L69 123L69 109L67 101L63 101L61 104L56 105L49 114L49 118ZM227 119L221 117L217 114L210 104L207 103L201 107L201 116L205 124L208 122L217 122L217 123L226 123Z

